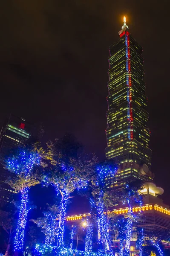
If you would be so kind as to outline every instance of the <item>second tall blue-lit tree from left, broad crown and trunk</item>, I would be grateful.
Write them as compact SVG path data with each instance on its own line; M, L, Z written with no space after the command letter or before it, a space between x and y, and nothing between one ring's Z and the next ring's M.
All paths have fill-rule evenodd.
M81 151L81 152L80 152ZM61 140L49 142L45 159L51 166L44 176L44 183L52 184L61 195L60 216L57 233L57 246L63 246L64 222L66 206L71 193L75 189L86 188L89 174L92 172L94 160L82 154L82 146L75 137L66 134ZM95 158L94 158L95 159Z

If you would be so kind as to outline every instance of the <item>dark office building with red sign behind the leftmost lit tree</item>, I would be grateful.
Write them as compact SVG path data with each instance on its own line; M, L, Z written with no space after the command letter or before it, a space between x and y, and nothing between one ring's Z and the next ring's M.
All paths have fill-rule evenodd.
M0 131L0 154L8 154L10 149L24 144L29 139L30 134L26 131L25 125L25 119L10 115ZM9 175L12 174L0 165L0 204L12 200L16 193L5 183Z

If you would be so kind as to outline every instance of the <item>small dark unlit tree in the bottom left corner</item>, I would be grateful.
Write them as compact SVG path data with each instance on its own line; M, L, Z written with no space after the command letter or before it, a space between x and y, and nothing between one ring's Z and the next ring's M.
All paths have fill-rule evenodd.
M3 230L5 230L8 234L8 245L6 248L5 256L9 256L12 234L16 228L16 220L12 217L11 212L0 210L0 226L3 227Z

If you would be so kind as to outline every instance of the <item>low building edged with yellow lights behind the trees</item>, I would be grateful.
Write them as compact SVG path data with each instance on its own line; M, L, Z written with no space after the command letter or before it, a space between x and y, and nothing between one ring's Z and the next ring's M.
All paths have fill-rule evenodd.
M135 256L135 254L138 253L138 250L136 250L136 240L138 238L137 227L143 227L144 239L149 239L149 236L153 235L156 230L170 229L170 209L160 198L158 198L158 195L163 193L163 189L150 182L145 184L142 192L144 194L144 204L141 207L132 208L132 211L135 214L138 214L139 212L142 213L141 221L134 222L132 227L130 247L132 256ZM128 213L128 211L128 207L115 207L115 209L105 212L105 214L108 216L110 213L121 215ZM67 216L66 221L80 221L84 218L86 219L89 215L90 213ZM119 244L119 240L116 238L113 230L109 230L109 237L113 247L115 247L116 244Z

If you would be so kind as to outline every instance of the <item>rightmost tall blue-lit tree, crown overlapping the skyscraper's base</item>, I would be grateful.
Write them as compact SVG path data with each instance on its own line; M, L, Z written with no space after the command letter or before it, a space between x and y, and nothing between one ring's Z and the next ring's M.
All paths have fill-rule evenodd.
M119 215L118 217L113 215L112 221L117 222L114 225L114 229L117 230L118 239L120 239L120 255L129 256L130 254L130 238L132 232L133 221L141 220L141 214L135 215L132 211L134 206L142 205L142 197L140 195L140 189L142 188L142 182L139 180L133 181L122 189L112 189L105 192L105 204L106 207L112 207L118 202L122 202L128 207L128 212L124 215ZM115 195L115 200L114 198ZM123 251L123 245L125 241L125 249Z

